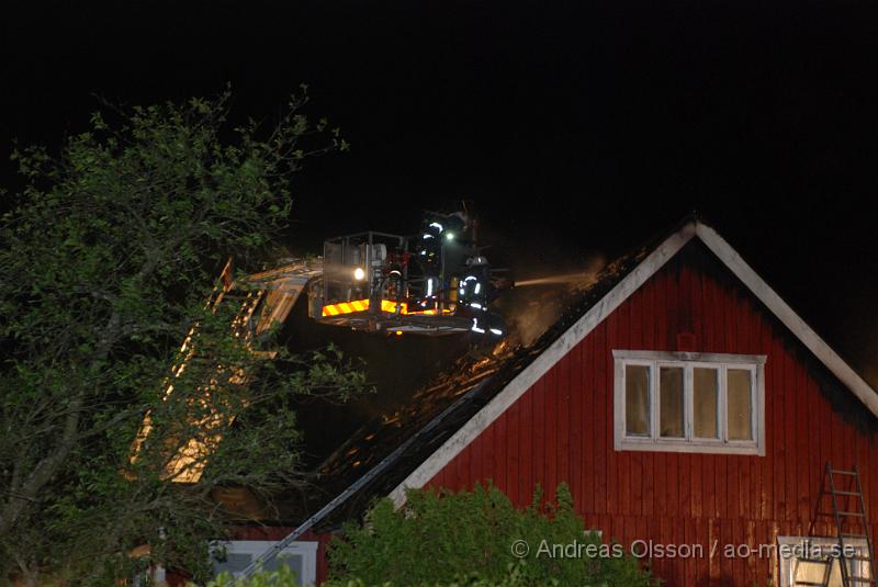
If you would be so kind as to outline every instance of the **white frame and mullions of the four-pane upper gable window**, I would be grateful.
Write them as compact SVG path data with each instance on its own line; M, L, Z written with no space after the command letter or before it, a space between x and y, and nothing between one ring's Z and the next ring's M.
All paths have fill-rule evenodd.
M702 452L719 454L765 455L765 361L764 354L725 354L713 352L666 352L614 349L614 429L617 451ZM650 368L650 437L626 434L626 365ZM658 370L662 366L684 370L684 438L658 436ZM694 369L718 370L718 439L695 437ZM728 380L730 369L747 370L751 375L753 440L729 440Z

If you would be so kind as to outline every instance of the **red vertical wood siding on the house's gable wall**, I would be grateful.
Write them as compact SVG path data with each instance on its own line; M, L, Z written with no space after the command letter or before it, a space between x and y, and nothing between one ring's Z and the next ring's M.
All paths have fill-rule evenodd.
M766 456L614 450L612 349L672 351L680 332L694 334L701 352L768 357ZM699 543L709 553L714 540L757 546L804 535L828 461L858 463L867 507L878 507L873 420L804 352L701 245L689 244L428 485L461 490L493 479L525 507L534 484L551 493L567 482L587 526L626 545ZM815 533L833 532L817 526ZM669 587L777 582L775 558L651 565Z

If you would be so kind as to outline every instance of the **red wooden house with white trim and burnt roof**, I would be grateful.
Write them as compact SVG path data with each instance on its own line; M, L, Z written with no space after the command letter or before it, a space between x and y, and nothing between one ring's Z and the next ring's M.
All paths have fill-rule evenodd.
M878 507L877 414L876 392L722 237L689 219L609 266L533 346L463 361L364 427L322 467L309 510L241 529L229 552L246 564L270 544L249 541L279 540L342 496L289 551L319 582L328 537L375 496L402 503L405 487L491 479L524 507L536 484L566 482L587 524L651 554L643 563L669 586L788 586L826 568L829 585L843 585L837 563L778 553L806 537L837 543L826 463L856 465L865 506ZM856 481L833 478L847 490L836 496L842 516L859 511ZM871 549L856 521L843 529L857 534L844 539L847 569L866 576Z

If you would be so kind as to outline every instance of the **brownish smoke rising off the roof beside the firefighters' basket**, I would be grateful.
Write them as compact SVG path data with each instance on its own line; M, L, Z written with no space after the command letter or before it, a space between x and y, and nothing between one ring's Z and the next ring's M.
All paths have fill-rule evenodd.
M541 268L541 272L519 270L527 279L516 281L515 287L505 292L495 304L495 309L506 320L506 343L532 345L558 321L571 303L595 283L605 264L604 256L592 255L578 267Z

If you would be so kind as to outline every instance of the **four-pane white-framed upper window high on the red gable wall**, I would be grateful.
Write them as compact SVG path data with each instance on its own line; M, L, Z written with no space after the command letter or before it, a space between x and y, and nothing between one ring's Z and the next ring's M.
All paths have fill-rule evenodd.
M765 355L612 355L616 450L765 454Z

